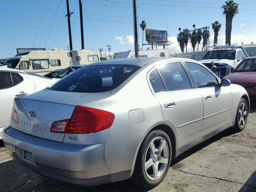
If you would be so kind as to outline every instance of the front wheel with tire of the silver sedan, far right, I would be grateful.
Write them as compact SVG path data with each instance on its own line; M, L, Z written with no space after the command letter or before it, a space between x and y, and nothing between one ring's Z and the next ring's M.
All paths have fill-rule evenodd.
M242 98L240 99L237 112L236 112L236 120L235 120L235 125L233 127L234 131L240 132L245 128L248 114L249 114L248 104L246 100Z

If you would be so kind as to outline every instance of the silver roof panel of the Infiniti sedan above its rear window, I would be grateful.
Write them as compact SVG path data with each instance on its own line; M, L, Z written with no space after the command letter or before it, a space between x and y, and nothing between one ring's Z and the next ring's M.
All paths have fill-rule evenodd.
M156 62L159 60L166 60L166 59L177 59L176 57L143 57L143 58L124 58L124 59L114 59L114 60L106 60L96 62L90 65L108 65L108 64L126 64L126 65L136 65L136 66L144 66L150 62ZM184 58L180 58L181 60Z

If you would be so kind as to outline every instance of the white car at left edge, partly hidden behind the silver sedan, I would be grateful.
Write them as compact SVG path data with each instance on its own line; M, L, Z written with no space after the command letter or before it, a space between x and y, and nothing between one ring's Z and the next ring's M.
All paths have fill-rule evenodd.
M14 98L40 91L54 82L56 81L36 74L0 68L0 140L2 130L10 125Z

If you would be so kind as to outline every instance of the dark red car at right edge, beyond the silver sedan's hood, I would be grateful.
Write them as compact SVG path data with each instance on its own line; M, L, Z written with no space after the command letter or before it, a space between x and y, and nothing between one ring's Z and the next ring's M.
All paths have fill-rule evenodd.
M244 59L232 72L224 77L231 83L243 86L250 101L256 101L256 56Z

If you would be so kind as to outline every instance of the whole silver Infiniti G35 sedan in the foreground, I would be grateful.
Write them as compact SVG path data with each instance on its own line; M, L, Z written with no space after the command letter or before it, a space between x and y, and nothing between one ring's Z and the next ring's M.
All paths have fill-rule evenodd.
M23 166L82 185L152 188L189 148L246 126L246 90L185 58L90 64L16 98L3 140Z

